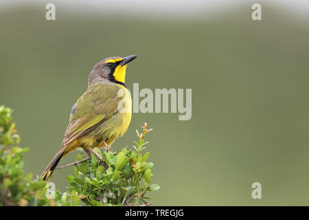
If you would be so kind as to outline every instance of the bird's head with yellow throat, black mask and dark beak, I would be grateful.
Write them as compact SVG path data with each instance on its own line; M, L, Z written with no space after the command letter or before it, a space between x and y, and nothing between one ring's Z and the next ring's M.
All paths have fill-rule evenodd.
M89 85L96 82L117 83L126 87L126 65L133 61L137 56L130 55L124 58L113 56L104 58L97 63L89 74Z

